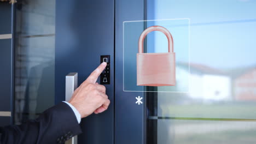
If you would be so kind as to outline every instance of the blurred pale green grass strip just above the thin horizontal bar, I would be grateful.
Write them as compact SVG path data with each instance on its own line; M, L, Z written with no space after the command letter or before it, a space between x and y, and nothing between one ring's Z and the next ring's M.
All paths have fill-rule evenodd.
M194 118L226 118L255 119L256 105L160 105L158 116L162 117L194 117ZM162 113L161 113L162 112Z

